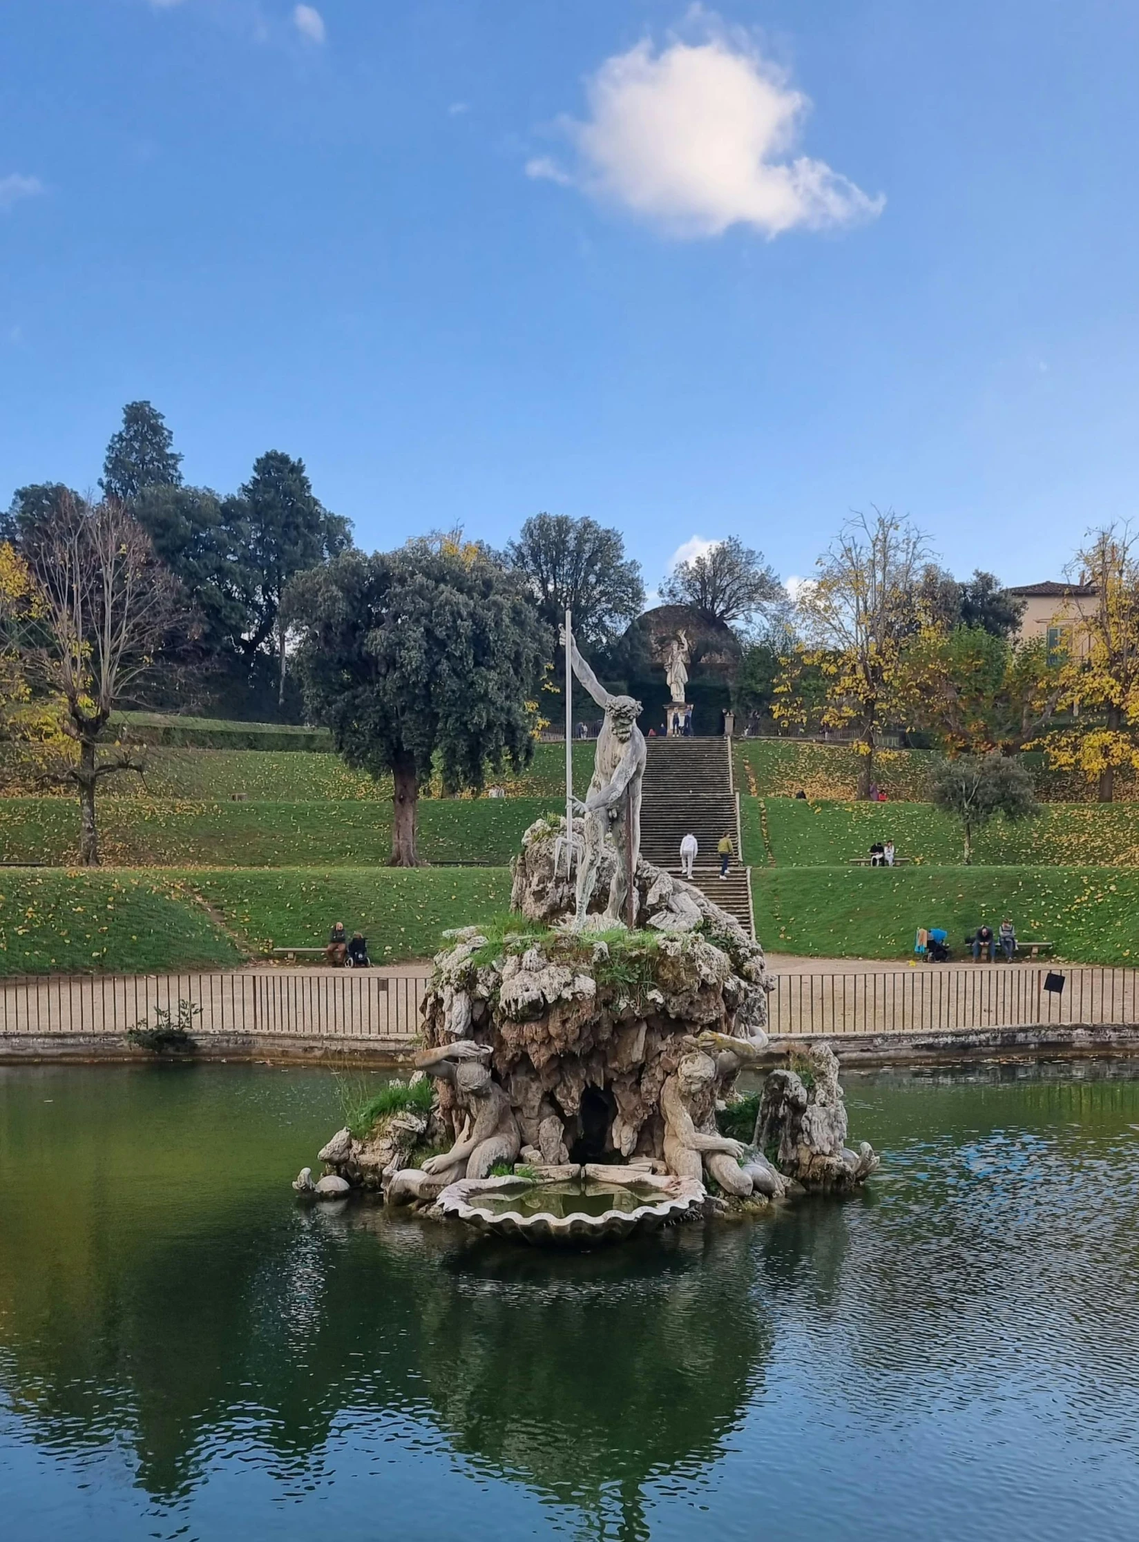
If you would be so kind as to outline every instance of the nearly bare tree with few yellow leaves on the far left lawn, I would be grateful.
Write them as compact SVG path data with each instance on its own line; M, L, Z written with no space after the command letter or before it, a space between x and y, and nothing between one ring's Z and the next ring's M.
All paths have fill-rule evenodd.
M142 762L116 746L100 754L111 712L131 700L154 669L176 617L177 583L150 538L116 500L90 504L68 495L25 543L34 581L23 658L29 677L63 708L74 743L57 771L79 791L79 859L99 862L96 790Z

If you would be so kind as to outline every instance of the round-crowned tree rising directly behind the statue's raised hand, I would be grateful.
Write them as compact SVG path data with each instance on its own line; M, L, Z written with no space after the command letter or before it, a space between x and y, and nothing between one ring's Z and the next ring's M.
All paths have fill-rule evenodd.
M548 626L573 611L583 646L613 643L645 604L640 564L625 557L619 530L594 520L536 513L506 547L506 561L523 575Z

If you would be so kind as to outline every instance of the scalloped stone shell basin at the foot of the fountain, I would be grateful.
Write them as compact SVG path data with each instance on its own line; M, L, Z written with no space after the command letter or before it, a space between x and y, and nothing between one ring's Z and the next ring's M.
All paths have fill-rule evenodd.
M560 1177L560 1175L559 1175ZM482 1232L499 1237L520 1238L529 1243L574 1243L590 1246L599 1241L620 1241L634 1232L651 1232L673 1221L693 1215L704 1207L707 1190L695 1178L661 1178L650 1172L630 1167L580 1169L586 1184L593 1184L591 1198L607 1190L633 1190L645 1194L644 1203L627 1209L600 1207L554 1214L540 1207L543 1187L560 1187L557 1180L505 1175L500 1178L460 1178L438 1197L438 1209L455 1220L465 1221ZM508 1201L517 1195L519 1207ZM614 1194L616 1198L616 1194ZM482 1201L482 1203L480 1203ZM492 1204L489 1201L494 1201Z

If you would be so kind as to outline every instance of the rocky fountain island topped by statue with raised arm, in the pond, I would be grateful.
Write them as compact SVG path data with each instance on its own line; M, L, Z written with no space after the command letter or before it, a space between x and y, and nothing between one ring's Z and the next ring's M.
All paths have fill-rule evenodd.
M826 1045L773 1070L755 1110L738 1093L741 1070L779 1058L762 948L640 859L636 703L605 692L576 646L573 666L605 709L582 825L525 833L515 924L448 934L415 1056L429 1110L420 1099L366 1140L340 1130L327 1173L480 1231L576 1243L857 1187L877 1156L846 1146Z

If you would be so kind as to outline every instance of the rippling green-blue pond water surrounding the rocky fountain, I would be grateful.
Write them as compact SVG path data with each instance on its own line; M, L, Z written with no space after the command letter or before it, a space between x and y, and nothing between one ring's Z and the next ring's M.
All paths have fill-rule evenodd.
M289 1183L323 1072L0 1069L0 1537L1139 1534L1130 1062L846 1079L866 1192L588 1254Z

